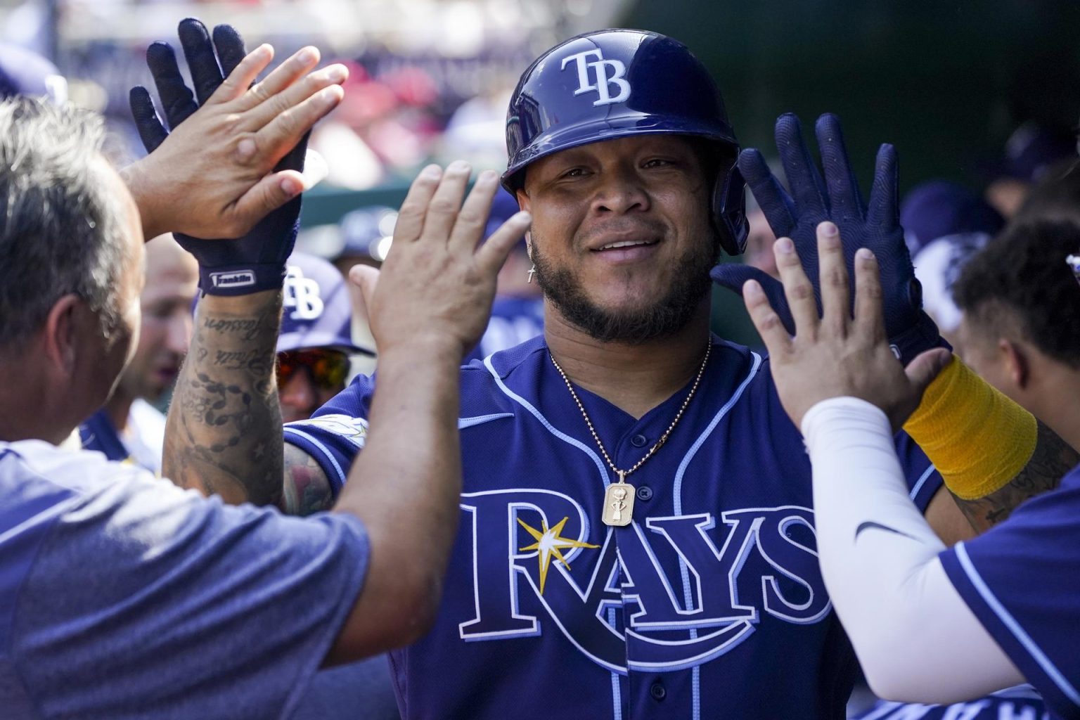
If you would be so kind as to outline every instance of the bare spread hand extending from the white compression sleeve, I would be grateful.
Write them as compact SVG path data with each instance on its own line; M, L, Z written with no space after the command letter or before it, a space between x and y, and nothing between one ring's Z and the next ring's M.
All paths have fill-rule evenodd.
M816 228L821 313L795 244L773 246L784 296L795 326L792 337L754 280L743 287L746 310L769 350L780 402L797 427L802 416L831 397L858 397L881 408L894 431L919 405L922 391L950 358L944 348L929 350L905 368L889 348L881 310L881 281L875 255L854 254L852 303L848 268L837 227Z

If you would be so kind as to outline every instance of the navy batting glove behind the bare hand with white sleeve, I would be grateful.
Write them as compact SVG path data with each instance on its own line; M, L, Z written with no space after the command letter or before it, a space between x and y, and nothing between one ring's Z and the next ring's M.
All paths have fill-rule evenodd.
M904 230L900 226L896 200L896 150L882 145L874 169L868 203L848 161L843 133L836 116L823 114L814 126L824 177L802 139L802 126L794 114L777 120L777 150L792 189L788 195L773 176L761 153L754 149L739 155L739 169L778 237L791 237L798 250L807 277L813 283L818 307L821 287L818 276L816 227L832 220L840 229L848 271L854 277L854 256L868 247L881 269L882 304L889 343L905 365L924 350L946 345L937 326L922 311L922 288L915 277ZM761 283L770 303L792 334L795 324L784 297L783 285L747 266L723 264L713 269L713 280L742 291L746 280Z

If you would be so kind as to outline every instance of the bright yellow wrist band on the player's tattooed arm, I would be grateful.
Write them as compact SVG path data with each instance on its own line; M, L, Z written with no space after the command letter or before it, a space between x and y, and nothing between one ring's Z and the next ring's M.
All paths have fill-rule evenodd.
M1024 468L1038 422L953 356L904 430L961 500L984 498Z

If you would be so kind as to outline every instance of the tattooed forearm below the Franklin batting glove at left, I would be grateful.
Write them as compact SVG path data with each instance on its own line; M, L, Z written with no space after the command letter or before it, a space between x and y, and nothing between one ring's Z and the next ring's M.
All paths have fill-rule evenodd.
M165 432L164 475L177 485L228 502L280 502L280 314L276 293L200 302Z

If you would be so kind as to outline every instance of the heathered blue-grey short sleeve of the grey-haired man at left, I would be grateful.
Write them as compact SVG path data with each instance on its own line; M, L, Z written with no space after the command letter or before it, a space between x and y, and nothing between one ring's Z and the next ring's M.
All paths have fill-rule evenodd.
M67 507L18 593L12 657L39 716L287 717L360 593L361 522L117 475Z

